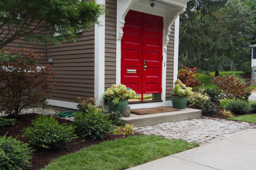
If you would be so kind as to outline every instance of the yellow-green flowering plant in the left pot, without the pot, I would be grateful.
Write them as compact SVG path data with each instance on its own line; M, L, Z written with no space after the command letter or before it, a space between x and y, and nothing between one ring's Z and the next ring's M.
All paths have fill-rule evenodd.
M126 100L135 97L135 91L131 88L127 88L124 84L112 84L111 88L108 88L104 92L103 99L113 99L114 105L119 103L119 100Z

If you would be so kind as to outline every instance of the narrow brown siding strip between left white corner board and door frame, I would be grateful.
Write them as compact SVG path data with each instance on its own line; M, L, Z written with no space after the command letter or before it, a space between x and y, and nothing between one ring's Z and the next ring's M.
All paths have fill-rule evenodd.
M116 0L106 1L105 89L116 84Z

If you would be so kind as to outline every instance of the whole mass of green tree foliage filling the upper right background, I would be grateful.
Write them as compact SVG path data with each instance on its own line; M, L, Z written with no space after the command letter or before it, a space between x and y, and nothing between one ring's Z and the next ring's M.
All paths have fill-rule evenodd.
M239 68L250 59L253 10L240 0L193 0L181 15L180 67L204 71Z

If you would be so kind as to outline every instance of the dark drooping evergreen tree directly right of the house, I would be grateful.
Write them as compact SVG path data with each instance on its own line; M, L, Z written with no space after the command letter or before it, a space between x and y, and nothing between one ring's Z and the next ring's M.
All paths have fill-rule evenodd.
M194 0L188 2L186 12L181 15L180 61L188 67L218 71L221 58L222 31L215 12L226 0Z

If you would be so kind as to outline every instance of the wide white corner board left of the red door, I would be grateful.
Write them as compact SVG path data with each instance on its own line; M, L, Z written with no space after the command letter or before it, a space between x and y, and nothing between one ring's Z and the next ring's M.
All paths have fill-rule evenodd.
M105 5L105 0L96 0L96 3ZM105 85L105 14L98 21L100 25L95 24L95 100L101 105Z

